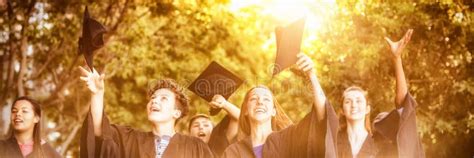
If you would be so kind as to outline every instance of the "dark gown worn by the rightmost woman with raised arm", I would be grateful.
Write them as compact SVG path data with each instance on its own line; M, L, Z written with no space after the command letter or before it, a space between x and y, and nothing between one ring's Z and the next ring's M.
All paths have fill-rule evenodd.
M416 101L410 94L405 96L400 108L394 109L383 118L374 121L373 135L368 135L357 157L425 157L421 140L416 129ZM352 158L347 131L339 131L338 155Z

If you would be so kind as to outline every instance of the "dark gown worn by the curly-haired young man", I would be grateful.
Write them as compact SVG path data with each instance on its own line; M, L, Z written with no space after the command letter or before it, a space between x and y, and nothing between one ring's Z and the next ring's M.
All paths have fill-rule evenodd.
M102 118L102 136L94 135L92 115L84 120L81 131L80 156L82 158L154 158L155 135L126 126L110 124ZM163 158L212 158L211 150L199 138L174 134L164 151Z

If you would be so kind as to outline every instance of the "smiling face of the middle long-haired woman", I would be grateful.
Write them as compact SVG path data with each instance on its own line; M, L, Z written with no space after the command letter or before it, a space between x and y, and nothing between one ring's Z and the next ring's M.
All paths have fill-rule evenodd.
M273 104L273 96L270 90L265 88L255 88L249 93L247 99L247 113L250 120L256 122L271 121L276 110Z

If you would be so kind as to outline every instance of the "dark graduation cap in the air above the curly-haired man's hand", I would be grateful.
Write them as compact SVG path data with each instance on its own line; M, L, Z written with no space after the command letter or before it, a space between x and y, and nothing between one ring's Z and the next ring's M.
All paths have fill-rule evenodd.
M84 55L91 70L93 68L94 51L104 46L102 36L105 32L107 32L105 27L90 17L86 6L82 21L82 37L79 38L79 53Z

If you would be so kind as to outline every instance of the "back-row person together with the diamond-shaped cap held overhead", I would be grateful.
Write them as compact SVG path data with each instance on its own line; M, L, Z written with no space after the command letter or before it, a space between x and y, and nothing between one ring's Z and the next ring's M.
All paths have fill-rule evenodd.
M188 89L209 104L209 114L217 115L225 111L227 115L214 127L209 116L197 114L189 121L189 133L208 143L209 148L216 156L236 141L240 109L227 101L242 85L240 79L230 70L212 61L188 86Z

